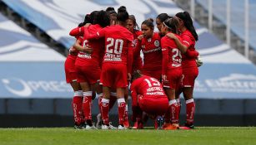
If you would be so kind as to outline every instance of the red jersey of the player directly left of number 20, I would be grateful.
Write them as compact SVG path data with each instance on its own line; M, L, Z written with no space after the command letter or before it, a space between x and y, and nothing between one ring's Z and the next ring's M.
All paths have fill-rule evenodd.
M96 34L97 31L102 30L98 24L90 25L86 27L89 33ZM91 54L87 54L83 51L79 51L78 58L76 60L76 65L98 65L101 66L103 60L103 50L104 50L104 40L87 40L88 36L83 36L83 46L89 45L93 48L93 52Z

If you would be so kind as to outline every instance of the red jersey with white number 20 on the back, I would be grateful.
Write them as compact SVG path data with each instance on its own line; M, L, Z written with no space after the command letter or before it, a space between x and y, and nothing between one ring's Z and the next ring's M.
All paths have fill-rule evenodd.
M127 64L128 72L132 71L133 34L126 27L114 25L105 27L96 35L90 35L85 29L88 40L105 37L105 55L103 63Z

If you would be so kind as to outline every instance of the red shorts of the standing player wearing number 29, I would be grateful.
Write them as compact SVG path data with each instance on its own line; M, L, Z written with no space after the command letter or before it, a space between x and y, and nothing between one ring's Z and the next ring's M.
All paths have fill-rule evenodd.
M173 69L167 71L167 82L163 82L164 88L177 89L182 79L182 69Z

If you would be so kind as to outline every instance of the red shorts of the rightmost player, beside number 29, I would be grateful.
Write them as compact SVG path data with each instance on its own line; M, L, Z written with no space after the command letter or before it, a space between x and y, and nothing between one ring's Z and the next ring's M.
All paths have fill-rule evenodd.
M198 77L198 67L194 69L183 69L182 87L193 87L194 80Z

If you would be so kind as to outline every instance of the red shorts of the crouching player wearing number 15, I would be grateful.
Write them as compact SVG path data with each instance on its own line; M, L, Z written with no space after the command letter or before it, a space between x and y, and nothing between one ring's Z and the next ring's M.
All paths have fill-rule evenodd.
M147 114L163 115L168 111L167 96L138 96L139 107Z

